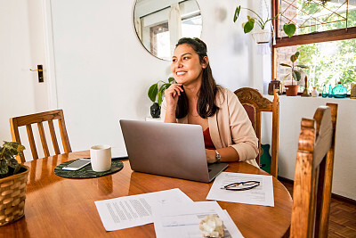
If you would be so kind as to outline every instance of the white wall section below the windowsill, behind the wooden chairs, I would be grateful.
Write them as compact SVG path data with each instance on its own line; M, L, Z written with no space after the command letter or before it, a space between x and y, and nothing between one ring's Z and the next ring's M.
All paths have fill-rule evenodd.
M273 97L267 95L272 100ZM279 97L279 176L294 180L295 158L302 118L312 119L320 105L337 103L336 152L332 193L356 200L356 100ZM270 113L271 114L271 113ZM263 144L271 144L271 115L263 114Z

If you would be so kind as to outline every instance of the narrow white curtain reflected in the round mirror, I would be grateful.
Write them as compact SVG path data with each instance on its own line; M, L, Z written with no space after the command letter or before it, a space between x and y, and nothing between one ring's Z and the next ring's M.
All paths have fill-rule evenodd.
M182 37L182 19L179 4L172 4L168 16L168 29L170 36L171 55L174 53L174 47Z

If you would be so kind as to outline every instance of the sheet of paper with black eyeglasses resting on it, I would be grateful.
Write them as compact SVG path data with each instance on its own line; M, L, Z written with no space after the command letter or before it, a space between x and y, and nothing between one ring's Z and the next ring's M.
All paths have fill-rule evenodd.
M250 180L259 181L261 184L246 191L222 189L224 185ZM231 201L274 207L272 176L223 172L215 178L206 200Z

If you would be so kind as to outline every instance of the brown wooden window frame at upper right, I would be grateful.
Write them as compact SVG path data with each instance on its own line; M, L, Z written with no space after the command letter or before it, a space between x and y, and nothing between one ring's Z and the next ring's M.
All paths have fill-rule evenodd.
M275 16L278 12L279 0L271 0L271 15ZM278 32L278 18L273 20L272 24L275 32ZM271 52L271 76L272 78L277 78L277 49L280 47L308 45L314 43L346 40L353 38L356 38L356 27L313 32L293 37L276 37L276 45L272 45Z

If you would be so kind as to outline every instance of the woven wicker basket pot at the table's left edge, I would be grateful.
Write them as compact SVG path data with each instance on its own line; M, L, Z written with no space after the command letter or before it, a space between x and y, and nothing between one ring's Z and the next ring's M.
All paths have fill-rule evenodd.
M0 179L0 226L24 215L29 170L26 165L20 166L19 174Z

